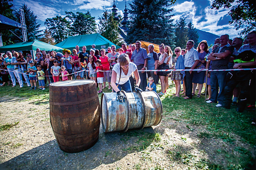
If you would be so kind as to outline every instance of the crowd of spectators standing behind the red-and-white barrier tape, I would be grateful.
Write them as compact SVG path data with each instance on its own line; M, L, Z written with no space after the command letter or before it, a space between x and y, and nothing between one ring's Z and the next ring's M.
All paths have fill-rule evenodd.
M64 49L63 53L37 49L34 60L30 54L25 57L22 51L7 51L0 58L0 69L3 69L1 70L1 86L5 86L6 83L9 86L12 82L13 87L17 83L19 83L20 88L24 86L24 83L30 87L31 84L34 84L34 80L43 80L44 83L40 83L41 88L39 88L43 90L44 84L47 87L50 83L59 80L92 79L97 82L97 71L102 70L103 74L100 74L102 75L102 82L99 83L102 83L100 85L103 85L102 89L104 89L107 81L110 90L112 69L118 62L118 57L121 54L127 54L129 60L139 70L139 88L143 91L146 89L155 91L156 89L149 86L152 86L152 82L160 83L161 91L158 94L159 96L164 95L169 87L168 80L170 77L176 87L174 97L180 97L181 92L183 99L209 95L207 103L216 103L216 107L225 107L226 109L229 109L231 104L237 105L237 111L242 112L244 109L255 109L255 70L235 72L172 71L172 73L146 70L255 68L255 40L255 31L248 33L245 40L240 37L230 39L229 35L224 34L217 38L210 48L205 40L201 41L197 47L194 47L193 40L189 40L186 49L180 47L174 49L174 56L170 47L164 44L159 46L160 53L158 54L154 51L154 45L150 44L148 46L149 53L147 53L147 50L141 47L140 41L129 44L129 46L123 43L120 49L116 49L116 46L112 45L107 48L107 51L105 49L97 50L93 44L90 53L86 52L86 46L82 47L82 51L80 51L79 46L76 46L72 51ZM37 77L37 79L32 77ZM150 84L147 77L150 77ZM101 79L99 80L101 81ZM135 80L135 76L132 74L129 77L132 90L135 87ZM181 83L183 89L181 89ZM31 89L36 89L35 87L31 87ZM205 94L202 94L203 87L206 89ZM101 93L102 89L100 88L98 92ZM198 90L197 94L196 90ZM250 105L246 107L248 99L250 99Z

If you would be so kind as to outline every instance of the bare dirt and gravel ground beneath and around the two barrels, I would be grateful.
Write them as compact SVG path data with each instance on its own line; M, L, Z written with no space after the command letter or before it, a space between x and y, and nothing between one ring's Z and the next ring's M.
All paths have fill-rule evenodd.
M225 155L239 158L237 146L255 153L236 136L233 143L200 137L205 127L179 120L179 111L173 117L164 115L158 126L143 130L104 134L100 127L99 140L92 148L65 153L51 129L46 98L3 97L0 104L0 124L13 125L0 131L0 169L184 170L207 169L215 164L225 168L229 164L223 159Z

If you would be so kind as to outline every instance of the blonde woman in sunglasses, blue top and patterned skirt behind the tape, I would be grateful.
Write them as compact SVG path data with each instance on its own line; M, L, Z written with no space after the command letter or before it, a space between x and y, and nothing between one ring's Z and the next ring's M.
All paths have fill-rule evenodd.
M183 56L180 55L181 48L176 47L174 53L176 54L176 57L174 59L174 69L185 69ZM173 80L175 83L176 93L173 94L175 95L175 97L180 97L180 81L183 80L184 77L185 71L172 71L171 80Z

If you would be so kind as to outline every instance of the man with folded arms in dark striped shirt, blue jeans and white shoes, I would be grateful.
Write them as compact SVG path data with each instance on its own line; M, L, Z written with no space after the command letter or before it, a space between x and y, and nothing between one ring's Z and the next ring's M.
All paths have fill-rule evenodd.
M220 36L220 46L210 53L208 57L212 60L212 70L222 70L228 69L228 62L231 54L233 53L233 48L227 43L229 41L229 35L224 34ZM211 72L211 90L212 97L206 103L217 103L216 107L223 105L224 100L224 89L226 86L226 75L227 71L212 71ZM216 87L218 84L219 88Z

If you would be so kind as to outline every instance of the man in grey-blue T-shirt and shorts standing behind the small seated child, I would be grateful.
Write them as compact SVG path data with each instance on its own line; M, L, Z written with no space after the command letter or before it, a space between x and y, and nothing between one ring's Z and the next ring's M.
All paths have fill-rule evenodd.
M147 54L147 70L157 70L159 58L157 53L154 51L154 45L149 44L149 53ZM157 76L156 71L147 71L147 77L153 77L154 82L158 84L159 76Z

